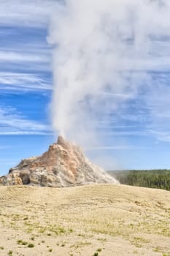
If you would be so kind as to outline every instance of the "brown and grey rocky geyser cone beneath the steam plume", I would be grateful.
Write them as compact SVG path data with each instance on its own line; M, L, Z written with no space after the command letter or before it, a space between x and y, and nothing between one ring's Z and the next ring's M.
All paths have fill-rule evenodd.
M118 184L101 167L93 165L74 143L58 137L40 157L23 159L0 178L2 185L72 187L84 184Z

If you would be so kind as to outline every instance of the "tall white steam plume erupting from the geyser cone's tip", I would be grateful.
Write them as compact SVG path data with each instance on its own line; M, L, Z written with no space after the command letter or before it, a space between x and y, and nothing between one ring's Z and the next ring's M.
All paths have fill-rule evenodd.
M150 80L148 70L166 66L156 56L155 41L169 34L169 10L169 1L159 0L58 4L48 37L56 132L94 145L98 123L136 97Z

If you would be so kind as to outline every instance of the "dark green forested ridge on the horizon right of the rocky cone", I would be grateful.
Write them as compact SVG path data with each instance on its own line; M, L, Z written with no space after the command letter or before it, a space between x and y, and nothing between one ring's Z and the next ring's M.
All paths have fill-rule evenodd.
M109 171L120 184L170 190L170 170Z

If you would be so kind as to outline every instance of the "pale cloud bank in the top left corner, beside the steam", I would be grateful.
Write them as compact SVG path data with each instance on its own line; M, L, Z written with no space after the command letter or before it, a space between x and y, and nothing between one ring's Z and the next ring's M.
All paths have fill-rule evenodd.
M55 0L1 0L1 25L9 26L47 26Z

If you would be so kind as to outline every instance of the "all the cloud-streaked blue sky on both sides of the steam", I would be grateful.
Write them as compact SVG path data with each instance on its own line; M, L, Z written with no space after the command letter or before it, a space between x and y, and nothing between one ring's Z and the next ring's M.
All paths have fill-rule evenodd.
M53 0L0 3L0 175L20 159L42 154L58 135L51 125L52 49L47 43L54 7ZM86 148L93 162L110 170L170 168L169 38L155 39L136 97L120 101L109 119L98 122L104 143ZM138 72L143 70L136 67ZM123 95L108 102L115 97Z

